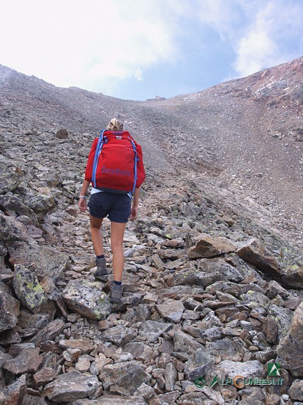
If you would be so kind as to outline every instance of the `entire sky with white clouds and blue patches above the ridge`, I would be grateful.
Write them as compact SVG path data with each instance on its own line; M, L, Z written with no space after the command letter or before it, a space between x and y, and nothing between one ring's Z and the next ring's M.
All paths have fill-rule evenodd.
M146 100L303 56L303 0L0 0L0 64Z

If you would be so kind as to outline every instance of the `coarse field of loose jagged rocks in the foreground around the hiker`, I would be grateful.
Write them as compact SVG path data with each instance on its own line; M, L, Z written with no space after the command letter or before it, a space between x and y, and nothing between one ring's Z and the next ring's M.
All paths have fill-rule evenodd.
M18 103L2 110L0 134L0 401L302 401L302 252L269 212L220 177L159 176L151 161L126 232L123 304L111 306L112 276L95 282L76 205L94 134L57 132ZM266 378L274 361L281 385L210 388L215 376Z

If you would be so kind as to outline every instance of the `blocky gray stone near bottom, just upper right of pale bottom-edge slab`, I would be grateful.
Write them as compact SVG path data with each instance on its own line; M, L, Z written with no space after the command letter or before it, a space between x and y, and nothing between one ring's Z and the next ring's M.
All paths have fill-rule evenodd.
M151 375L144 371L138 361L107 364L102 368L99 375L105 390L109 390L112 385L118 385L126 388L130 394L133 394L142 383L147 384L150 378Z

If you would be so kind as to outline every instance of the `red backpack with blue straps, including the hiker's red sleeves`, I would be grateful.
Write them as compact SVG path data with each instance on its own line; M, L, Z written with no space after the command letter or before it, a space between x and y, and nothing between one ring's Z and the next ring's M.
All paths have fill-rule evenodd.
M145 178L142 149L128 131L104 129L93 142L85 179L111 193L133 193Z

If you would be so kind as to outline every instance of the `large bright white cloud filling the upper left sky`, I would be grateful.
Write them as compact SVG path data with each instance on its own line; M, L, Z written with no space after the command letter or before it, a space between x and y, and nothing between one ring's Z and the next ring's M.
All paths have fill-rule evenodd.
M176 8L172 8L173 4ZM58 86L109 92L177 54L182 1L11 0L0 17L0 63Z

